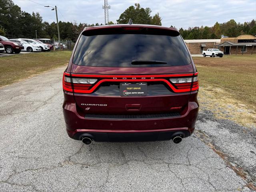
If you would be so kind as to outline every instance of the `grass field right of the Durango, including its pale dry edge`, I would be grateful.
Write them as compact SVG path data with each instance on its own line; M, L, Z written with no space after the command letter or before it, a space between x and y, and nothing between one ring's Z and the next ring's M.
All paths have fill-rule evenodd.
M256 123L256 55L193 57L201 106L239 123ZM222 109L222 112L220 112ZM223 110L226 115L223 114Z

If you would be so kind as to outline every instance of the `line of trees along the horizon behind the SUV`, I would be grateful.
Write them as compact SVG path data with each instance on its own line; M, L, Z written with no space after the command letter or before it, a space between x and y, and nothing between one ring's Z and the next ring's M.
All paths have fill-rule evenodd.
M108 24L127 24L129 19L134 24L153 24L162 25L159 13L151 16L150 8L142 8L140 4L128 7L116 20L116 23L110 21ZM78 35L86 26L98 26L102 23L87 24L76 22L59 21L61 40L72 40L75 42ZM43 22L42 16L38 12L32 14L22 11L12 0L0 0L0 35L8 38L50 38L58 40L56 22ZM201 26L188 29L179 29L184 39L212 39L220 38L221 35L236 37L242 34L256 35L255 20L250 22L236 23L230 20L225 23L214 24L212 27Z

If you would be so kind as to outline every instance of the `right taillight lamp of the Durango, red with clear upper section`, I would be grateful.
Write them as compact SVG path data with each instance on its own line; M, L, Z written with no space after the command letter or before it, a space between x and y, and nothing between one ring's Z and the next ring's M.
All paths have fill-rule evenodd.
M185 90L191 88L191 91L195 91L199 88L198 76L185 78L170 78L170 81L176 86L177 89Z

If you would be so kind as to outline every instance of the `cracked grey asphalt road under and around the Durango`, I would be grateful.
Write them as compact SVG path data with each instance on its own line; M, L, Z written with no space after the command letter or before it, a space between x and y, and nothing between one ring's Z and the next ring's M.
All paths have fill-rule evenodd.
M196 135L180 144L70 139L64 69L0 89L0 191L252 191ZM213 129L209 121L200 119L199 129Z

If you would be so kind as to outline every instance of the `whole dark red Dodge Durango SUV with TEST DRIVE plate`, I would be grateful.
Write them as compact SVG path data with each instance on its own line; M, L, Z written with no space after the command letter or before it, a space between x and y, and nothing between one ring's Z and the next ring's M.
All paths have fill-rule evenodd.
M198 72L176 28L87 27L63 74L68 135L96 142L156 141L194 131Z

